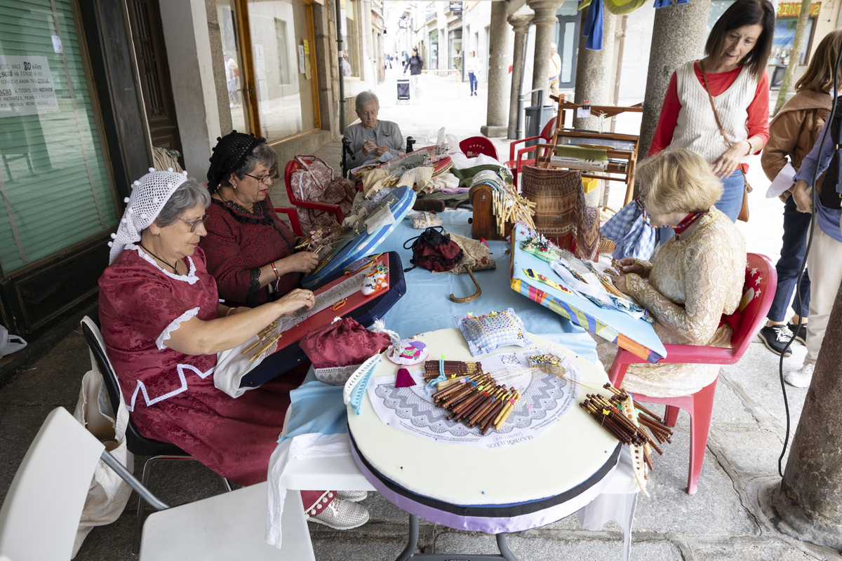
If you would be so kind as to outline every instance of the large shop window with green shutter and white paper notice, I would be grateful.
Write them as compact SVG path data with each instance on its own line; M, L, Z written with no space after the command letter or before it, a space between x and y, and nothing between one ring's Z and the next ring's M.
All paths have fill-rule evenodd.
M0 0L0 269L117 225L72 3Z

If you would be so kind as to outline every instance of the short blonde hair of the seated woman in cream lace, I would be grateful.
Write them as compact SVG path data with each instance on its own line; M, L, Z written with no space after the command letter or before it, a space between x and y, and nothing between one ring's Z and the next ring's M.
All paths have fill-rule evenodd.
M711 164L684 148L662 151L637 167L647 211L652 214L704 212L722 197L722 182Z

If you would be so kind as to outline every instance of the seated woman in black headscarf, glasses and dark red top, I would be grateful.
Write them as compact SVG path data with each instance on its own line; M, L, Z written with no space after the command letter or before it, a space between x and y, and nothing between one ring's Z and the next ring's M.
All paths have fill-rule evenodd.
M318 263L315 253L295 251L292 230L274 212L269 188L277 166L265 139L236 130L219 139L210 157L200 246L226 304L253 307L280 298Z

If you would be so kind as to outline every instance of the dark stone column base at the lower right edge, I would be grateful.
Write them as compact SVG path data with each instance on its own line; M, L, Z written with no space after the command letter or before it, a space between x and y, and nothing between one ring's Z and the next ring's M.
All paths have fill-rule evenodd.
M813 381L792 438L776 526L799 540L842 548L842 290L836 294Z

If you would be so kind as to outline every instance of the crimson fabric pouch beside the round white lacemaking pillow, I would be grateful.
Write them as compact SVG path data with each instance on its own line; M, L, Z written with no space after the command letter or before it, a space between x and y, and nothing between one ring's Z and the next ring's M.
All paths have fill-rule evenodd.
M313 368L334 368L362 364L392 345L386 333L365 329L354 318L346 317L307 333L299 341Z

